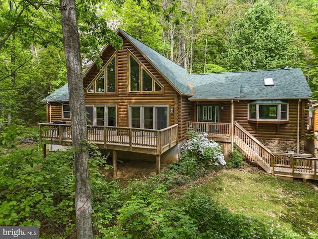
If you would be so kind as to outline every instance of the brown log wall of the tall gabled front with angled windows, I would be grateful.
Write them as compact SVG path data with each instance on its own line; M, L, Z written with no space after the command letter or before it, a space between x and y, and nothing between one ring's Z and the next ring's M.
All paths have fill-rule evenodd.
M103 63L102 67L105 66L107 61L115 54L116 55L116 79L117 87L116 93L86 93L85 92L85 104L94 106L104 106L104 105L116 105L117 106L117 126L128 127L128 111L129 106L147 106L147 105L166 105L168 107L168 126L175 123L180 123L184 127L186 125L186 120L188 119L186 115L178 118L179 112L181 113L181 98L182 101L187 101L187 98L181 97L176 90L171 87L171 85L161 76L161 74L146 60L146 58L140 54L140 52L130 44L124 38L123 48L116 51L112 47L108 46L104 54L102 55ZM161 92L129 92L129 67L128 59L129 54L132 54L138 63L147 69L153 78L159 82L162 87ZM95 65L92 66L86 77L84 78L84 87L88 89L89 84L94 80L94 78L99 74L100 69ZM140 86L141 90L142 86ZM189 103L187 103L189 104ZM190 104L191 105L191 104ZM60 106L61 107L61 106ZM174 113L170 113L170 109L174 109ZM193 109L193 108L192 108ZM62 107L58 109L58 106L52 108L54 111L54 120L62 119ZM186 111L182 110L183 114L188 114ZM53 116L53 115L52 115ZM52 121L54 121L52 119ZM182 137L179 130L179 137Z

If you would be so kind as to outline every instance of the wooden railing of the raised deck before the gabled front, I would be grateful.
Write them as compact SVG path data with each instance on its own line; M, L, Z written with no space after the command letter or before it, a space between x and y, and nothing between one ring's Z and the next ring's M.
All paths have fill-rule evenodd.
M72 144L70 124L39 123L40 137L51 143ZM133 151L147 148L151 154L161 154L178 143L178 124L163 129L146 129L114 126L88 126L87 138L103 148Z

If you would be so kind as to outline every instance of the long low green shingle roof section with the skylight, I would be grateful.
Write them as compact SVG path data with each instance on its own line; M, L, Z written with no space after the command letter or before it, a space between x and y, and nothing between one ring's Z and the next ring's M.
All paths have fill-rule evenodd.
M265 85L272 78L273 85ZM309 99L312 91L300 68L193 74L190 100L209 99Z

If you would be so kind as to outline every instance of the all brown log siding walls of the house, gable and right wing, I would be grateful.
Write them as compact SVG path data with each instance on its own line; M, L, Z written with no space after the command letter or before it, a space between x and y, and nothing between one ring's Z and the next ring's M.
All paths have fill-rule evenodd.
M94 106L116 105L117 109L117 126L128 127L129 106L154 106L166 105L168 107L168 126L173 124L179 125L179 141L185 139L187 131L186 122L196 121L196 105L213 104L220 106L219 121L231 122L231 102L200 102L194 103L188 100L188 97L181 96L179 93L161 76L161 74L146 60L146 58L125 38L123 38L123 48L116 51L111 46L108 46L102 55L102 67L108 62L112 56L116 56L116 79L117 86L115 93L85 93L85 104ZM129 92L129 54L134 55L141 66L154 77L162 86L162 92ZM98 75L100 69L93 65L89 68L88 73L83 79L84 87L89 84ZM142 86L140 86L140 89ZM246 130L252 133L259 140L297 140L297 106L298 100L289 101L289 122L285 124L276 123L256 123L248 122L247 107L249 101L235 101L235 121L242 125ZM62 105L52 102L47 110L51 107L51 116L47 114L47 121L54 122L63 120ZM223 106L223 110L221 110ZM307 100L301 102L301 135L306 133L307 112L304 108L307 107ZM170 113L173 109L173 113Z

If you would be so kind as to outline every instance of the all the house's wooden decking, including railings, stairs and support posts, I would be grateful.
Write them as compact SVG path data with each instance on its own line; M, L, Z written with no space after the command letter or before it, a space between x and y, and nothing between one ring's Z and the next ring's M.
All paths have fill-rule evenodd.
M230 123L187 122L187 126L206 132L215 141L231 143L233 139L245 157L275 176L318 180L318 159L313 155L271 152L237 122L233 130ZM70 124L40 123L39 127L41 138L49 144L72 146ZM160 171L160 155L178 144L177 124L161 130L93 126L87 131L89 142L113 150L113 159L117 150L157 155L157 172Z

